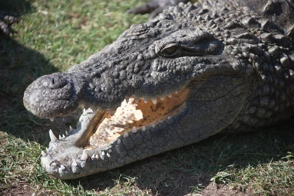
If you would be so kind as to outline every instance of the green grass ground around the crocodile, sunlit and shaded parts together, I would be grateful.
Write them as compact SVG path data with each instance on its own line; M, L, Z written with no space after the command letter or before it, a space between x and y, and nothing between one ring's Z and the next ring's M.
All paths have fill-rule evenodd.
M252 133L217 135L77 180L49 176L40 164L48 130L61 133L68 127L60 119L51 123L27 112L25 88L43 74L85 60L148 16L124 13L143 0L7 3L0 8L20 14L21 22L12 26L11 39L0 37L0 195L293 195L293 118Z

